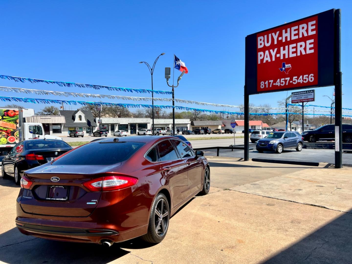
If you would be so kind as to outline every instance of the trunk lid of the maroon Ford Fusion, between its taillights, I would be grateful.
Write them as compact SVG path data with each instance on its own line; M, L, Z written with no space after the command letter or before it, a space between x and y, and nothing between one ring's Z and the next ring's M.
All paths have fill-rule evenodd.
M117 165L50 165L28 170L30 190L23 189L24 212L38 215L85 217L93 213L101 192L91 192L82 183L99 178ZM110 168L111 167L111 168ZM85 173L85 172L89 172Z

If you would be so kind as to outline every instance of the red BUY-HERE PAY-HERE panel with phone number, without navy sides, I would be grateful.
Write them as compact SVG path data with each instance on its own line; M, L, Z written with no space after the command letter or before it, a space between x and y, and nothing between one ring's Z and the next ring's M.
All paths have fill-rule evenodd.
M318 16L257 34L257 91L318 84Z

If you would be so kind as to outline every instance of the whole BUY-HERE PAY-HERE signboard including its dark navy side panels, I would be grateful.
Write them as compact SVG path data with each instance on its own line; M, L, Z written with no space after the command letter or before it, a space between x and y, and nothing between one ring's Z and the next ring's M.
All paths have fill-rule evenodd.
M334 10L246 37L246 93L334 85Z

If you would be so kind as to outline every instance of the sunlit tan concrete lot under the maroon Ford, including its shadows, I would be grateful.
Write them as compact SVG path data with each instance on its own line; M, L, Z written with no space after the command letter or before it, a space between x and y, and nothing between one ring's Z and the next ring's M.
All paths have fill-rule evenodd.
M210 193L180 209L157 245L27 237L14 223L19 188L0 177L0 262L351 263L351 168L207 158Z

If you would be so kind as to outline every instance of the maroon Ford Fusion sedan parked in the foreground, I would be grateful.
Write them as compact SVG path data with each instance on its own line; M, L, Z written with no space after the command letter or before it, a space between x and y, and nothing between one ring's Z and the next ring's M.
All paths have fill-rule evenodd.
M170 216L209 188L203 152L178 138L99 139L24 173L16 225L52 240L159 243Z

